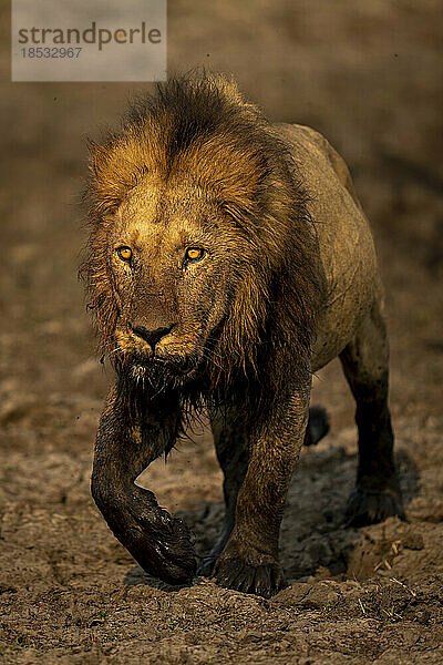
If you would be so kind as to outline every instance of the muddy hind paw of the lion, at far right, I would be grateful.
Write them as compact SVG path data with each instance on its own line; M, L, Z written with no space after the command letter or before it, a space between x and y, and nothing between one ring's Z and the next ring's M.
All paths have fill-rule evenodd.
M394 515L405 520L400 492L393 490L378 492L356 488L348 499L346 508L348 526L377 524Z

